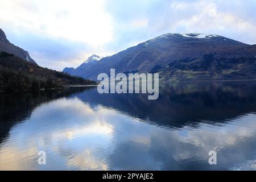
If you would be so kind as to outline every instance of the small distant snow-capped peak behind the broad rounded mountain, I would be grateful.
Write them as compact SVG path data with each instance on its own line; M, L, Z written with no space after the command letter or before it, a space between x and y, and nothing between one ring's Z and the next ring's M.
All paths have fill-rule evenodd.
M76 69L74 68L64 68L63 72L64 73L69 73L70 75L80 75L82 76L84 73L88 72L89 69L91 69L94 65L98 63L98 61L102 59L102 57L97 56L97 55L92 55L88 57L84 63L82 63L79 67Z

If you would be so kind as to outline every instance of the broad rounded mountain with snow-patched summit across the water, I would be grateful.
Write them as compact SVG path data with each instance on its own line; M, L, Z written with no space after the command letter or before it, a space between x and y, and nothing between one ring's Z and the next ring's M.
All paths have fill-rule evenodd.
M164 34L69 73L97 80L111 68L116 73L159 73L166 81L255 79L256 45L219 35Z

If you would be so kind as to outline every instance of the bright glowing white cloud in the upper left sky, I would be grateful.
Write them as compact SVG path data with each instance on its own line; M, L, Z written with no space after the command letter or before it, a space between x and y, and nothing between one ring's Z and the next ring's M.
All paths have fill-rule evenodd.
M0 1L0 23L48 36L101 46L112 40L112 22L104 0Z

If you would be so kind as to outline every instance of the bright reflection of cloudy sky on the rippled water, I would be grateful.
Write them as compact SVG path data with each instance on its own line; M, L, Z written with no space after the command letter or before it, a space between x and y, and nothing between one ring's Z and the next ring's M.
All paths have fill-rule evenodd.
M40 105L1 144L0 169L256 169L256 115L170 128L79 98ZM38 151L47 165L37 164ZM208 152L217 151L217 166Z

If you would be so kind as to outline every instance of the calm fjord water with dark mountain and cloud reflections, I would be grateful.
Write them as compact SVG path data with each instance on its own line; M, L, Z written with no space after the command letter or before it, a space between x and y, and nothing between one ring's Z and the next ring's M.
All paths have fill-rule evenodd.
M0 169L256 170L256 82L159 91L151 101L95 87L1 93ZM38 165L39 151L46 165Z

